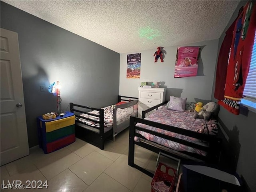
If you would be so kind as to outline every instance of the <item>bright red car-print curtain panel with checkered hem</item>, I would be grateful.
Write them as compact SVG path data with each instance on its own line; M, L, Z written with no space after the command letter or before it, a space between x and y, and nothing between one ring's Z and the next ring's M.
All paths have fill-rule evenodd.
M256 29L256 5L249 1L236 19L228 61L224 99L218 103L238 115L250 68Z

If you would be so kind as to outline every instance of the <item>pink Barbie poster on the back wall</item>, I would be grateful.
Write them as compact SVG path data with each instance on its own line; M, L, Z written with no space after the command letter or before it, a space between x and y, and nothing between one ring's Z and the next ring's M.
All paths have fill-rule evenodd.
M174 78L196 76L200 47L178 47Z

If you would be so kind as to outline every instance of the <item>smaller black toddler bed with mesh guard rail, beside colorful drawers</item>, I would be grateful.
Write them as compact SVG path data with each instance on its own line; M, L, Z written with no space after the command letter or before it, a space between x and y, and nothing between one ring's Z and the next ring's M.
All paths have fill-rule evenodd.
M115 136L129 126L130 116L138 115L138 99L118 96L117 104L100 109L70 103L70 111L76 116L76 137L103 150L106 138L112 135L115 140Z

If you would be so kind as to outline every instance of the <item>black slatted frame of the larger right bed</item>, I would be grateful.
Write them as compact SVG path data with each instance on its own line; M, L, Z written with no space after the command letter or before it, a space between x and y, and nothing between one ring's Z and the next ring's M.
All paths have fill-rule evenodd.
M141 146L143 148L146 148L150 151L156 152L156 153L164 152L165 154L168 154L170 156L173 156L173 157L181 159L181 160L188 160L187 158L184 157L184 155L185 155L185 156L190 156L192 158L196 158L196 159L198 159L202 162L207 162L207 163L211 163L211 164L218 163L219 160L220 160L220 146L221 146L222 139L220 139L220 138L218 138L214 135L202 134L202 133L198 133L198 132L194 132L194 131L190 131L190 130L186 130L186 129L182 129L182 128L177 128L177 127L174 127L174 126L169 126L169 125L166 125L166 124L161 124L161 123L158 123L158 122L153 122L153 121L149 121L149 120L144 119L146 113L148 113L148 112L150 112L151 110L154 110L154 109L157 110L158 107L166 104L167 102L168 101L163 102L161 104L158 104L158 105L156 105L152 108L149 108L145 111L142 111L142 118L136 118L136 117L132 117L132 116L130 117L128 165L132 166L134 168L137 168L138 170L144 172L148 176L151 176L151 177L154 176L153 173L149 172L148 170L146 170L146 169L144 169L144 168L142 168L142 167L140 167L140 166L138 166L137 164L134 163L135 144L138 145L138 146ZM202 146L202 145L199 145L199 144L188 142L186 140L182 140L182 139L179 139L179 138L176 138L176 137L166 136L166 135L161 134L159 132L154 132L152 130L148 130L148 129L145 129L145 128L137 127L136 126L137 123L146 124L146 125L149 125L149 126L153 126L153 127L156 127L156 128L163 129L163 130L168 130L168 131L171 131L171 132L182 134L184 136L189 136L189 137L192 137L192 138L200 139L200 140L203 140L205 142L208 142L209 147L205 147L205 146ZM174 142L177 142L177 143L180 143L180 144L184 144L186 146L197 148L199 150L204 150L204 151L207 152L207 155L202 156L202 155L195 154L195 153L192 153L192 152L175 151L175 150L172 150L172 151L174 151L174 153L172 153L172 152L170 152L170 150L167 151L167 150L164 150L162 148L158 148L156 146L150 145L150 141L148 141L147 143L143 142L143 141L135 142L134 141L134 136L137 136L139 138L144 138L142 135L136 133L135 130L141 130L143 132L147 132L149 134L154 134L156 136L165 138L167 140L171 140L171 141L174 141ZM220 131L220 128L219 128L219 131ZM146 138L144 138L144 139L146 140ZM151 143L153 144L154 142L151 142Z

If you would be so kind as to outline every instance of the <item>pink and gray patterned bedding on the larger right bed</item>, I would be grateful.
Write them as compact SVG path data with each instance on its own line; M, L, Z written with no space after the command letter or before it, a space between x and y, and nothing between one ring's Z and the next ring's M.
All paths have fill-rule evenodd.
M165 108L165 107L161 107L161 108L158 108L158 110L156 112L150 114L145 119L154 121L154 122L158 122L158 123L162 123L162 124L166 124L166 125L175 126L178 128L197 131L202 128L202 124L205 123L205 120L204 119L194 119L193 114L194 114L194 112L180 112L180 111L169 110L168 108ZM199 144L202 146L208 146L208 143L202 142L201 140L198 140L196 138L191 138L188 136L184 136L184 135L170 132L167 130L162 130L162 129L155 128L155 127L148 126L148 125L141 124L141 123L136 124L136 126L146 128L148 130L152 130L155 132L159 132L159 133L162 133L162 134L165 134L168 136L180 138L180 139L186 140L188 142L196 143L196 144ZM143 131L136 130L136 132L141 134L142 136L144 136L147 140L154 141L158 144L161 144L168 148L172 148L177 151L187 151L187 152L197 153L197 154L200 154L203 156L205 156L207 154L206 152L204 152L202 150L198 150L196 148L192 148L192 147L189 147L189 146L177 143L177 142L166 140L164 138L161 138L161 137L158 137L158 136L155 136L155 135L143 132ZM139 141L139 140L140 139L138 137L135 137L135 141Z

